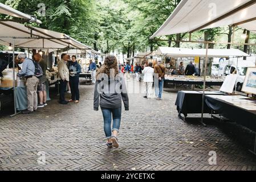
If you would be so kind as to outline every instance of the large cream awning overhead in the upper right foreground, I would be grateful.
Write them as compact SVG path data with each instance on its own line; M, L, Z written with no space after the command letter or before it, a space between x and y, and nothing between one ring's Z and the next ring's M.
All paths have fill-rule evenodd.
M255 10L255 0L182 0L151 39L228 25L256 32Z

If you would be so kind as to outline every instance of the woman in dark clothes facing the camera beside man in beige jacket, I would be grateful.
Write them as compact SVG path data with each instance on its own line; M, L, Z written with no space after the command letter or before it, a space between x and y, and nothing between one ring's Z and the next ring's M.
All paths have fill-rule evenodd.
M72 61L68 65L70 71L70 89L71 89L71 100L70 102L79 102L79 74L82 72L81 66L76 61L76 56L72 56Z

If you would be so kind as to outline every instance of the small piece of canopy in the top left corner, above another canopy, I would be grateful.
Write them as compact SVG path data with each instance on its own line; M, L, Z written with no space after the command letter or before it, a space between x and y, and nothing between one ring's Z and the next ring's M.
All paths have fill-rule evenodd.
M38 19L36 19L34 16L27 15L25 13L22 13L21 11L15 10L11 8L10 6L4 5L3 3L0 3L0 14L10 15L17 18L23 18L30 20L30 22L36 22L41 24L42 22Z

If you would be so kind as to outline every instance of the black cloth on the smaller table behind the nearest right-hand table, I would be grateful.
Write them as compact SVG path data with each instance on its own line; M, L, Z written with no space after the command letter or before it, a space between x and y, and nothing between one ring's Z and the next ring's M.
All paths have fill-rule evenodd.
M208 95L224 95L220 92L205 92ZM200 114L202 113L202 92L197 91L179 91L176 99L179 115ZM211 113L212 110L205 104L204 113Z

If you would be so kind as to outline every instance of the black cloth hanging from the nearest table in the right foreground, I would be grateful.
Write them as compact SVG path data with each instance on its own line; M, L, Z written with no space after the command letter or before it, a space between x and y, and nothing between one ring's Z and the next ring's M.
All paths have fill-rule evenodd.
M207 106L223 117L256 131L256 111L242 109L228 102L205 96Z

